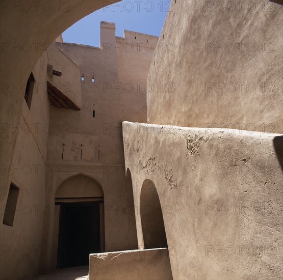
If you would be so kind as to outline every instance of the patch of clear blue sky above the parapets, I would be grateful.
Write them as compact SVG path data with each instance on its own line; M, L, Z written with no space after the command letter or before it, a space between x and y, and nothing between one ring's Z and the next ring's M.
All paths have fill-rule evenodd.
M119 37L123 37L124 30L160 36L169 5L168 0L123 0L74 23L63 33L63 40L99 47L100 21L115 22Z

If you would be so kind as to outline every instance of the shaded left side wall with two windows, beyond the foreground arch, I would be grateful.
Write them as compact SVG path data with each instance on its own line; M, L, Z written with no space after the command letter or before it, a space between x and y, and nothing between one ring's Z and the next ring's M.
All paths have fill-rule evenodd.
M47 64L48 55L44 52L33 69L35 85L31 107L21 98L20 123L7 126L9 133L17 134L17 141L12 164L2 165L1 173L9 173L11 182L19 188L19 195L13 226L1 222L5 247L1 267L6 268L1 269L1 276L4 279L27 279L38 274L43 219L48 215L44 196L50 113L46 93ZM22 85L23 90L26 85ZM2 219L5 208L6 201L2 204ZM18 269L15 270L16 264Z

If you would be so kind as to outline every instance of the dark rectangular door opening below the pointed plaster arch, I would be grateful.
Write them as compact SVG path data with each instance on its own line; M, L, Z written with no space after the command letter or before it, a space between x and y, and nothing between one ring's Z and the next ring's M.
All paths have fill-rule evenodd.
M99 203L61 203L57 268L89 264L100 252Z

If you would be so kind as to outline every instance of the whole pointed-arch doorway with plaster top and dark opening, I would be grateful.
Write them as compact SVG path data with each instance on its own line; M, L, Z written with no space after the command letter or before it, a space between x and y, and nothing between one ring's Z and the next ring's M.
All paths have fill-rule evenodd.
M76 175L55 194L59 212L57 268L84 266L104 250L104 193L93 179Z

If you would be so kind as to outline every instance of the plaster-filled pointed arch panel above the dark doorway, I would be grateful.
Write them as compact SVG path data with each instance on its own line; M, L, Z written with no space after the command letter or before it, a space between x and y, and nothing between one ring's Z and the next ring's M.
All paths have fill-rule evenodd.
M77 174L64 180L55 192L55 198L104 197L100 184L89 176Z

